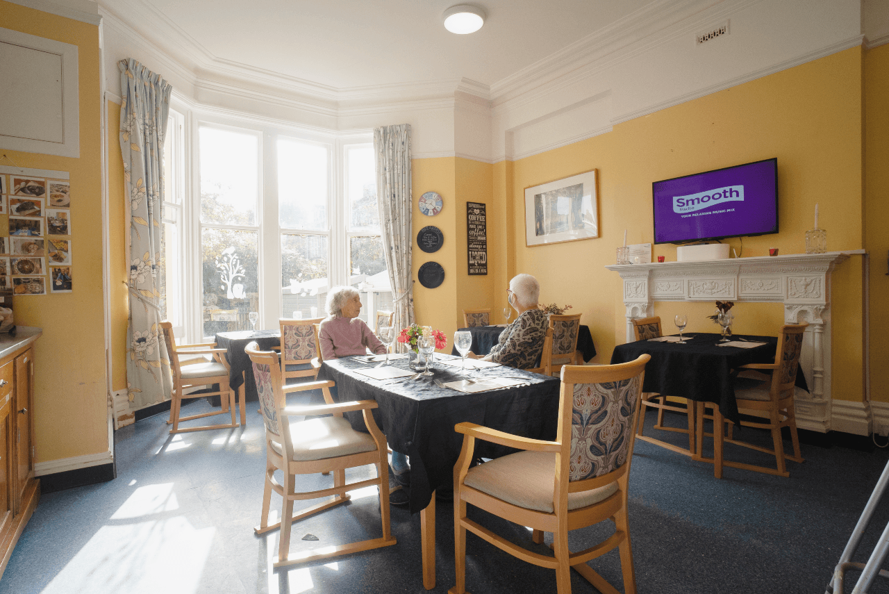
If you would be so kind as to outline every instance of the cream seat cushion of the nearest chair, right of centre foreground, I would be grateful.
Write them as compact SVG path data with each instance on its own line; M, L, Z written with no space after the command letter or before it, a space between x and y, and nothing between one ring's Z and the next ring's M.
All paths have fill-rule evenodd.
M509 454L469 469L464 483L521 508L552 513L556 454ZM604 501L616 493L617 488L617 483L612 483L581 493L569 493L568 510L578 510Z

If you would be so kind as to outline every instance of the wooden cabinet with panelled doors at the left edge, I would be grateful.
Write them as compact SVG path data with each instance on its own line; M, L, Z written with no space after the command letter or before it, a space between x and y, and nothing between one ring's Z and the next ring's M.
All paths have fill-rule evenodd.
M0 576L40 498L34 478L33 346L39 336L28 328L18 338L0 338Z

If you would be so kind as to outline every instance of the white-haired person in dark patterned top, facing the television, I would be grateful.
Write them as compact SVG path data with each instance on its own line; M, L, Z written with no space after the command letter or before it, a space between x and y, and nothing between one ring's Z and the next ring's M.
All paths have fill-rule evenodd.
M482 358L518 369L532 369L538 365L549 326L547 315L537 308L540 295L541 285L530 274L512 277L507 300L518 314L516 321L504 328L500 340L488 356L478 357L470 352L468 357Z

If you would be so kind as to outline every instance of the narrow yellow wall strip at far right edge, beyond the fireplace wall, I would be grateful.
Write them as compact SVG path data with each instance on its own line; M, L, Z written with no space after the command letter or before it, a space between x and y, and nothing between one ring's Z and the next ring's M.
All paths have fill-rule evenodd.
M870 398L889 402L889 45L865 52L864 246L870 254Z

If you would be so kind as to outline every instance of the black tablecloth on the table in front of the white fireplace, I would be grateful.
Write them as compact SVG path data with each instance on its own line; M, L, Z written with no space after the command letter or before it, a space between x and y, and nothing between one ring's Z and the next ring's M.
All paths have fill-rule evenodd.
M773 336L733 336L765 344L754 349L720 347L719 334L690 333L687 344L636 341L614 348L612 365L633 361L648 353L644 392L715 402L726 419L739 421L731 371L749 363L774 363L778 339ZM687 337L686 337L687 338ZM808 391L802 370L797 370L797 387Z

